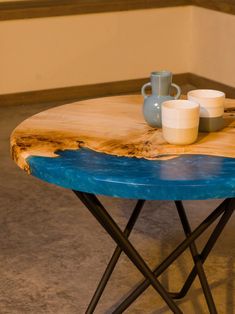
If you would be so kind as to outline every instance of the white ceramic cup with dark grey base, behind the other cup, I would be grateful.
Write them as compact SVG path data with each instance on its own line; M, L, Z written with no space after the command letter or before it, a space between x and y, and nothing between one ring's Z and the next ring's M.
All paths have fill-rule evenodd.
M188 92L188 100L200 105L199 131L214 132L223 128L225 94L212 89L196 89Z

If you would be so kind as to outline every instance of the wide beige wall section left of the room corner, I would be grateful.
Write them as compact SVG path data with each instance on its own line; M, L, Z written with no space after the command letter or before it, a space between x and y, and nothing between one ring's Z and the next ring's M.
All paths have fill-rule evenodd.
M189 71L191 7L0 22L0 93Z

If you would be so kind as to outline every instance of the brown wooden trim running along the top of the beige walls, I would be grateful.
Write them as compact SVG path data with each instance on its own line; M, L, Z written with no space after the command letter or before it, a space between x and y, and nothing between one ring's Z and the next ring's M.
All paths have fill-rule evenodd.
M0 3L0 21L195 5L235 14L234 0L24 0Z

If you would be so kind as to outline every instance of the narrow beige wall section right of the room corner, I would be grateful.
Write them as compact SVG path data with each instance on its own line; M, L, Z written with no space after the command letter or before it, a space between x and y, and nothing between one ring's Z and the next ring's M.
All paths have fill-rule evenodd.
M235 87L235 15L193 8L191 72Z

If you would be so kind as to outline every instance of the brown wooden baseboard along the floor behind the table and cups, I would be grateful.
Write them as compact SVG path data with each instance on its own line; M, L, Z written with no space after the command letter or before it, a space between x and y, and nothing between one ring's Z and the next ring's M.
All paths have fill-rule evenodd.
M0 95L0 105L30 105L35 103L60 103L104 96L136 94L149 78L71 86L48 90L29 91ZM209 88L224 91L229 98L235 98L235 87L193 73L174 75L174 82L180 86L190 84L196 88Z

